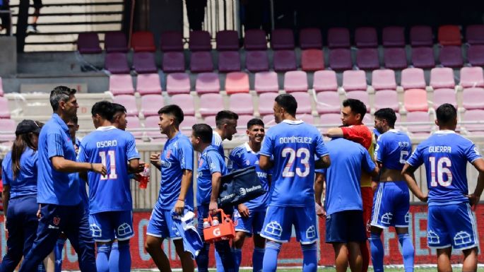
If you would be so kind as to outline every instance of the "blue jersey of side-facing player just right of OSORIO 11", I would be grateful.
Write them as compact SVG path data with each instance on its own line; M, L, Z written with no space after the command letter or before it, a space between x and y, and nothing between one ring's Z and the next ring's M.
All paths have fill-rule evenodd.
M172 209L177 203L182 189L182 170L194 168L194 149L190 140L181 132L165 143L161 160L161 181L158 205L163 209ZM191 181L193 182L193 181ZM190 186L185 196L185 205L193 208L194 191Z

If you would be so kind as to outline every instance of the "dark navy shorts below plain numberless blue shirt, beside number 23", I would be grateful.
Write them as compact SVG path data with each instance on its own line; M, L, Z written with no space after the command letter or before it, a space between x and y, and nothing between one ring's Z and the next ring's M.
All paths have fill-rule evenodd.
M363 211L339 211L326 215L326 243L363 242L366 239Z

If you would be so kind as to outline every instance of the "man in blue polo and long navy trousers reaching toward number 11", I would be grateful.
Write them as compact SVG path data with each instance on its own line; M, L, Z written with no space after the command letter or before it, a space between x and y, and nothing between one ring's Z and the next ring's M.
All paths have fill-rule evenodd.
M25 256L19 272L37 271L64 232L78 254L82 272L95 272L94 241L88 215L79 196L77 172L94 171L106 175L101 163L76 162L73 139L66 123L76 116L76 90L58 86L50 93L52 118L39 136L37 202L40 203L37 237Z

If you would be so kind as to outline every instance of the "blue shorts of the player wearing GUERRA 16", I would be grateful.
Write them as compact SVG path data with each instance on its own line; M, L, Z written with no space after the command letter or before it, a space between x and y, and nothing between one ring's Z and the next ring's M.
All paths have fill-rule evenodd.
M429 206L427 244L435 249L478 247L477 224L471 206L467 202Z

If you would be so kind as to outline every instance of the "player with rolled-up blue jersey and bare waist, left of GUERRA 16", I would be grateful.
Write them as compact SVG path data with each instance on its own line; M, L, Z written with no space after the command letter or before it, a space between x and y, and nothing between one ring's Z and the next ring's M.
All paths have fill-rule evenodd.
M375 148L375 160L381 169L379 184L373 198L370 248L375 272L383 272L384 249L382 230L395 227L403 254L406 272L413 271L413 244L408 235L410 196L401 175L403 165L412 153L407 134L395 129L394 110L384 108L374 113L374 127L380 136Z

